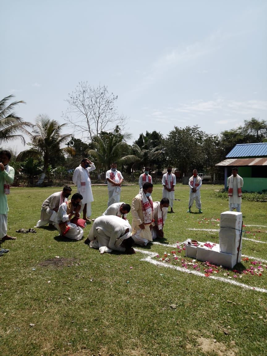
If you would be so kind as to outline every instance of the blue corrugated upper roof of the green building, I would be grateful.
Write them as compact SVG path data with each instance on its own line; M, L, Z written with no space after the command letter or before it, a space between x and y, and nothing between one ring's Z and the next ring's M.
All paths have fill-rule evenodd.
M236 145L226 158L267 156L267 142L241 143Z

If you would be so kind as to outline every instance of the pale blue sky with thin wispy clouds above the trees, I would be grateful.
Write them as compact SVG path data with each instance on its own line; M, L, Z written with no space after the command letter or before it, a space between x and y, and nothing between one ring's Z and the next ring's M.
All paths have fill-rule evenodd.
M266 120L266 18L266 0L1 1L0 96L63 123L79 81L105 84L133 140Z

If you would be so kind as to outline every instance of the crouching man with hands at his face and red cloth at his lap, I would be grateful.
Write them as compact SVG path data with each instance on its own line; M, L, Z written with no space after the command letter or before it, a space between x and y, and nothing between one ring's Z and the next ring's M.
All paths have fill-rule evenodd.
M75 193L71 200L59 206L56 228L60 236L65 236L72 240L82 239L83 228L86 226L85 220L79 219L82 199L83 196L81 194Z

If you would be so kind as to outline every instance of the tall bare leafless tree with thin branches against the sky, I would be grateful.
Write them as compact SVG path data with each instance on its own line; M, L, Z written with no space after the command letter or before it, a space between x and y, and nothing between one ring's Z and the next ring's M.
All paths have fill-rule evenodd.
M67 111L63 113L66 121L74 127L84 141L93 140L101 131L112 131L116 126L125 126L126 117L119 115L115 102L118 98L109 94L104 85L91 87L88 82L80 82L75 91L68 94Z

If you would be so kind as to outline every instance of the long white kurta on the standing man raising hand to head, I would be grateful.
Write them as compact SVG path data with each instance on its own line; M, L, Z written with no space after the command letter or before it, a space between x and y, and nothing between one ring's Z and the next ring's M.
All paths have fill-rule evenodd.
M82 196L83 196L83 200L81 201L81 204L83 206L84 206L84 204L87 204L87 216L88 217L92 215L91 201L94 201L89 172L92 172L94 170L95 170L95 165L93 162L92 162L92 164L90 164L90 167L82 168L82 171L84 174L84 179L85 179L85 188L86 188L85 192L82 192L82 188L81 188L79 167L75 168L75 171L74 171L73 177L72 177L73 183L77 185L77 193L82 194ZM83 206L82 206L82 208L83 208Z

